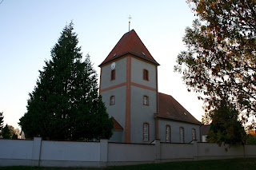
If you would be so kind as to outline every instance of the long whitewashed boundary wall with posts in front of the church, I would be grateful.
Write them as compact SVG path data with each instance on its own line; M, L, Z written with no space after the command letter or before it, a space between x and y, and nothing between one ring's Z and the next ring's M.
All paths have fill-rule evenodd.
M106 167L180 160L256 157L256 145L228 148L217 144L123 144L100 142L0 139L1 166Z

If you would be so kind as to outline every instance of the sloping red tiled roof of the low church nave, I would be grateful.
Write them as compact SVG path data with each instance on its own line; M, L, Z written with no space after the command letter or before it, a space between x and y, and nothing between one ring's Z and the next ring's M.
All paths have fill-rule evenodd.
M174 97L164 93L158 93L158 114L155 114L155 116L201 125Z

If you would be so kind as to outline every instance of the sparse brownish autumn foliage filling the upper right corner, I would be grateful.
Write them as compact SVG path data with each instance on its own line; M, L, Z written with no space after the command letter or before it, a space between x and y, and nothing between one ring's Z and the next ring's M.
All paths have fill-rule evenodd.
M254 0L189 0L198 19L186 28L187 51L176 71L208 109L234 105L242 119L256 113L256 8Z

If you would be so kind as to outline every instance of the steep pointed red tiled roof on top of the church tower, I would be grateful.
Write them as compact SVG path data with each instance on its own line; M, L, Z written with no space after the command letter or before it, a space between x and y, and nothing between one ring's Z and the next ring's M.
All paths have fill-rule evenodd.
M156 65L159 65L154 57L151 56L146 46L143 44L142 40L138 37L138 34L134 30L124 34L119 40L118 44L114 46L114 49L106 57L106 59L99 66L106 64L118 57L122 57L126 53L131 53L134 56L140 57L146 61L150 61Z

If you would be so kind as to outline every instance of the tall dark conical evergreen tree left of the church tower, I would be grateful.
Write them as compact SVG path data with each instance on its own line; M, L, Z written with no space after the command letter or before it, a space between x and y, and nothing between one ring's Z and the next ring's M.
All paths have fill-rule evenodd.
M27 113L19 125L26 137L56 140L110 138L113 122L98 96L97 74L90 56L82 61L71 22L51 50L30 93Z

